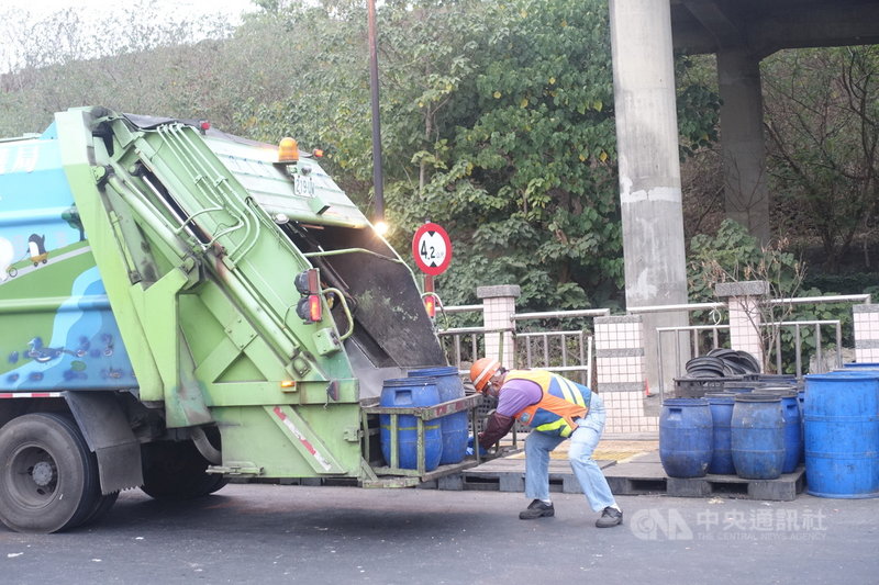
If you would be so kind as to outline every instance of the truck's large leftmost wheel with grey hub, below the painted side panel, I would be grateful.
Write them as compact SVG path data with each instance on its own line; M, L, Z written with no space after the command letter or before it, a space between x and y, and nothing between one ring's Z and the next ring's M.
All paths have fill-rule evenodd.
M74 528L96 509L98 461L76 424L34 413L0 428L0 520L19 532Z

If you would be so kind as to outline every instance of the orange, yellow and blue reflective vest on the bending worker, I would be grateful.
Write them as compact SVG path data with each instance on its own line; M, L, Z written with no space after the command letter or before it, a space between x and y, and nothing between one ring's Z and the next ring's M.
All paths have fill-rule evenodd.
M577 428L575 419L585 417L589 412L592 392L567 378L546 370L510 370L504 376L504 383L510 380L530 380L543 391L539 402L515 415L520 423L534 430L570 437Z

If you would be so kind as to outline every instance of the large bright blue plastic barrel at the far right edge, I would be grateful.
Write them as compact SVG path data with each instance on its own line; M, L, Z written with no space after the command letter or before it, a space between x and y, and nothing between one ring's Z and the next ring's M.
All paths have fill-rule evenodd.
M879 370L805 376L805 481L813 496L879 496Z

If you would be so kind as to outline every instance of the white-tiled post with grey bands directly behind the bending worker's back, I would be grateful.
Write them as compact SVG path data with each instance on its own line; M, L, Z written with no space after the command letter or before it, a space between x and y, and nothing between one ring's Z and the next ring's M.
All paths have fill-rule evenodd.
M608 409L608 436L655 434L645 410L644 330L639 315L596 318L598 392Z

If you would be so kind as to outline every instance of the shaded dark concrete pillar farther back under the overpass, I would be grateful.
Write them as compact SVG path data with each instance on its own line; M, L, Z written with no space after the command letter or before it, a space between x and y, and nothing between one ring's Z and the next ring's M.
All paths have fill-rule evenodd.
M717 52L726 216L769 243L760 63L741 48Z

